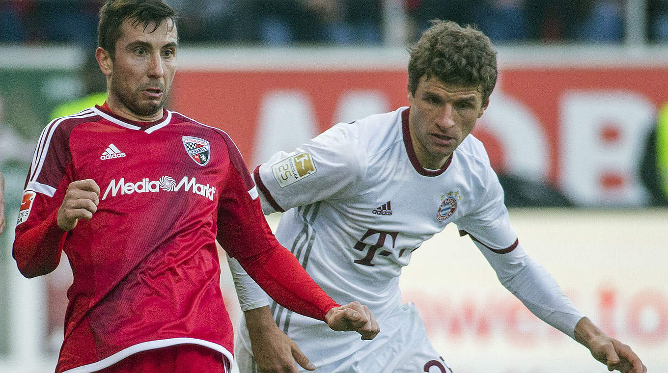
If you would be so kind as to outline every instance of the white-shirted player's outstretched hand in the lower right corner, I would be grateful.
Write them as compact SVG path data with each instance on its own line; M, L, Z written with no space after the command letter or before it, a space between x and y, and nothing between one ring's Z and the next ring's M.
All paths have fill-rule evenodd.
M582 318L575 326L575 340L589 348L596 360L608 366L609 371L646 373L647 367L631 347L607 336L589 318Z

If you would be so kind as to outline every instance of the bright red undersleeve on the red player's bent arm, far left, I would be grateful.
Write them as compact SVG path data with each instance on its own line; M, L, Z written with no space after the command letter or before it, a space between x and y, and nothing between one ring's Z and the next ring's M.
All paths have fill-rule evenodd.
M56 214L57 211L37 226L17 233L13 257L19 271L27 278L48 274L60 262L66 232L57 226Z

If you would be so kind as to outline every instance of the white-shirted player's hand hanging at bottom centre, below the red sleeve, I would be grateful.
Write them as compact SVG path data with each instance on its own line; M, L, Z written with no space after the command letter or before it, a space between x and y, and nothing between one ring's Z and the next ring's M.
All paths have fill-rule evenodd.
M297 344L276 326L269 306L244 312L255 364L262 373L299 373L297 364L307 370L315 365Z

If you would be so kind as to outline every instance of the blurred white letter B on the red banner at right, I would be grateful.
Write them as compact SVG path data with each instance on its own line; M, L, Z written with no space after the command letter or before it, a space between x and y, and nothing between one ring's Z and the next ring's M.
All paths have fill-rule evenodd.
M581 206L641 206L645 138L656 108L633 91L567 91L560 101L560 182Z

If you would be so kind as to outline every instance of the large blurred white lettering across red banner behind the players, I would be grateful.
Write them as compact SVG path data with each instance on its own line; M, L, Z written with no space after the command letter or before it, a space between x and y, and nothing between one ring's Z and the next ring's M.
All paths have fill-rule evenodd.
M338 97L332 123L387 111L380 90L351 90ZM647 191L638 176L645 135L655 107L635 91L565 91L558 137L550 139L530 105L497 91L478 125L502 147L504 171L537 181L556 180L578 206L642 206ZM368 109L368 111L365 111ZM267 91L259 109L253 164L294 149L319 132L313 100L299 89ZM290 131L285 131L290 128ZM559 159L550 158L557 147ZM494 159L492 159L494 161Z

